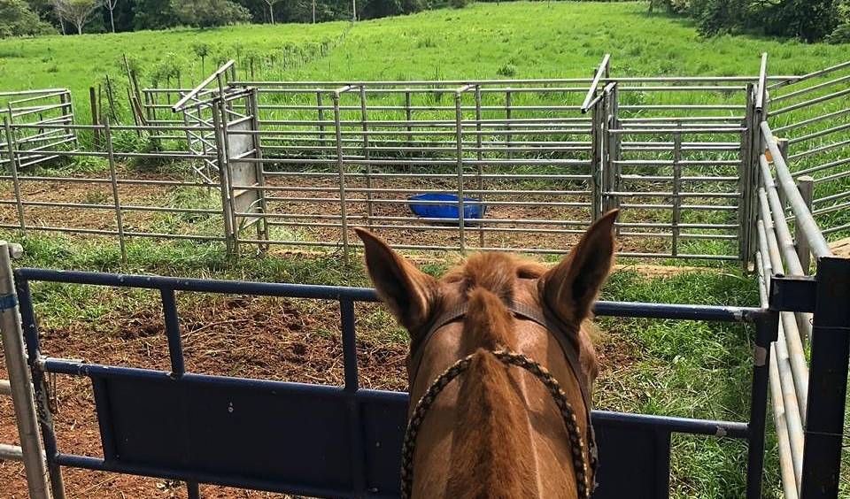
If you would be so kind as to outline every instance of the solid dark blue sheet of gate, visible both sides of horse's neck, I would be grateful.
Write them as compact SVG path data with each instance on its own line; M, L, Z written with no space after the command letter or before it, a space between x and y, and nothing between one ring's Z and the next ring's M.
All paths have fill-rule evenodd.
M147 373L91 373L109 469L167 470L168 478L274 491L398 496L406 394ZM601 465L594 499L667 497L669 432L610 419L595 424Z

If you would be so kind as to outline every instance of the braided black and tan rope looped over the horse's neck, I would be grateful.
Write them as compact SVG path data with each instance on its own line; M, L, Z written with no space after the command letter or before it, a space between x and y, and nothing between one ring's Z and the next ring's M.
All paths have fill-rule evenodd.
M578 488L578 496L580 499L588 499L591 496L593 487L591 486L591 475L588 473L588 461L584 459L584 439L578 427L576 419L576 411L573 411L572 405L567 399L567 394L563 388L560 388L560 383L554 376L543 366L531 360L529 357L521 353L514 352L508 349L498 349L490 352L494 357L498 358L505 365L515 365L522 367L526 371L533 374L537 380L540 380L549 390L555 404L558 406L561 418L564 420L564 425L567 427L567 434L570 441L570 450L573 455L573 470L576 472L576 487ZM422 421L425 415L434 403L437 395L452 382L455 378L466 372L469 365L472 364L472 357L475 353L463 357L446 369L437 377L429 386L424 395L421 396L419 402L413 410L413 415L407 422L405 432L405 440L401 448L401 498L409 499L413 493L413 454L416 447L416 436L419 434ZM590 457L591 470L596 470L596 458Z

